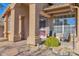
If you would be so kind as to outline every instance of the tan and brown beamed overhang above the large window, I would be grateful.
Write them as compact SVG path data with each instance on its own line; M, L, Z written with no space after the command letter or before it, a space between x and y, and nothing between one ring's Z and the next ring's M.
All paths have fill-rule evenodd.
M63 5L53 5L53 6L44 8L42 10L42 13L45 13L46 15L49 15L50 17L52 17L52 16L75 14L75 11L76 11L75 6L73 6L71 4L63 4ZM41 15L45 17L45 15L42 13L41 13Z

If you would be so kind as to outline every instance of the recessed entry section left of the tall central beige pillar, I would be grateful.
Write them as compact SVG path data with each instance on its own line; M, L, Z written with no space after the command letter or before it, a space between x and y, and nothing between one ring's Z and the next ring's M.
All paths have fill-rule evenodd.
M11 4L3 14L4 37L8 41L27 40L29 34L29 4Z

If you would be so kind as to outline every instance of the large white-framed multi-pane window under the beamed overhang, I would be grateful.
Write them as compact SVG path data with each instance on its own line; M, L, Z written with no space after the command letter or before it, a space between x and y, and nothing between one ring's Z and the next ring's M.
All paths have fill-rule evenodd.
M75 24L69 24L67 20L70 20L71 18L58 18L53 19L53 33L63 33L63 34L75 34L76 33L76 27Z

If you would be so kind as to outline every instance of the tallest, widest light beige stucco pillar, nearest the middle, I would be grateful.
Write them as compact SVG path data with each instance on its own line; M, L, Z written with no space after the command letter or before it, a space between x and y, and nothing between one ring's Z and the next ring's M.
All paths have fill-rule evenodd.
M35 4L29 4L29 37L27 44L35 45Z

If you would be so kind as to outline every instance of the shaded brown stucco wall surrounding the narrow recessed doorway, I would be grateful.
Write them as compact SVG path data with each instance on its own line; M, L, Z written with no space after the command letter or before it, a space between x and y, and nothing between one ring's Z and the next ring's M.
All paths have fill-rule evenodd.
M15 35L19 34L19 16L24 16L24 29L25 29L25 39L27 39L28 37L28 32L29 32L29 28L28 28L28 20L29 20L29 8L26 5L20 5L17 4L15 7ZM20 39L17 39L20 40Z

